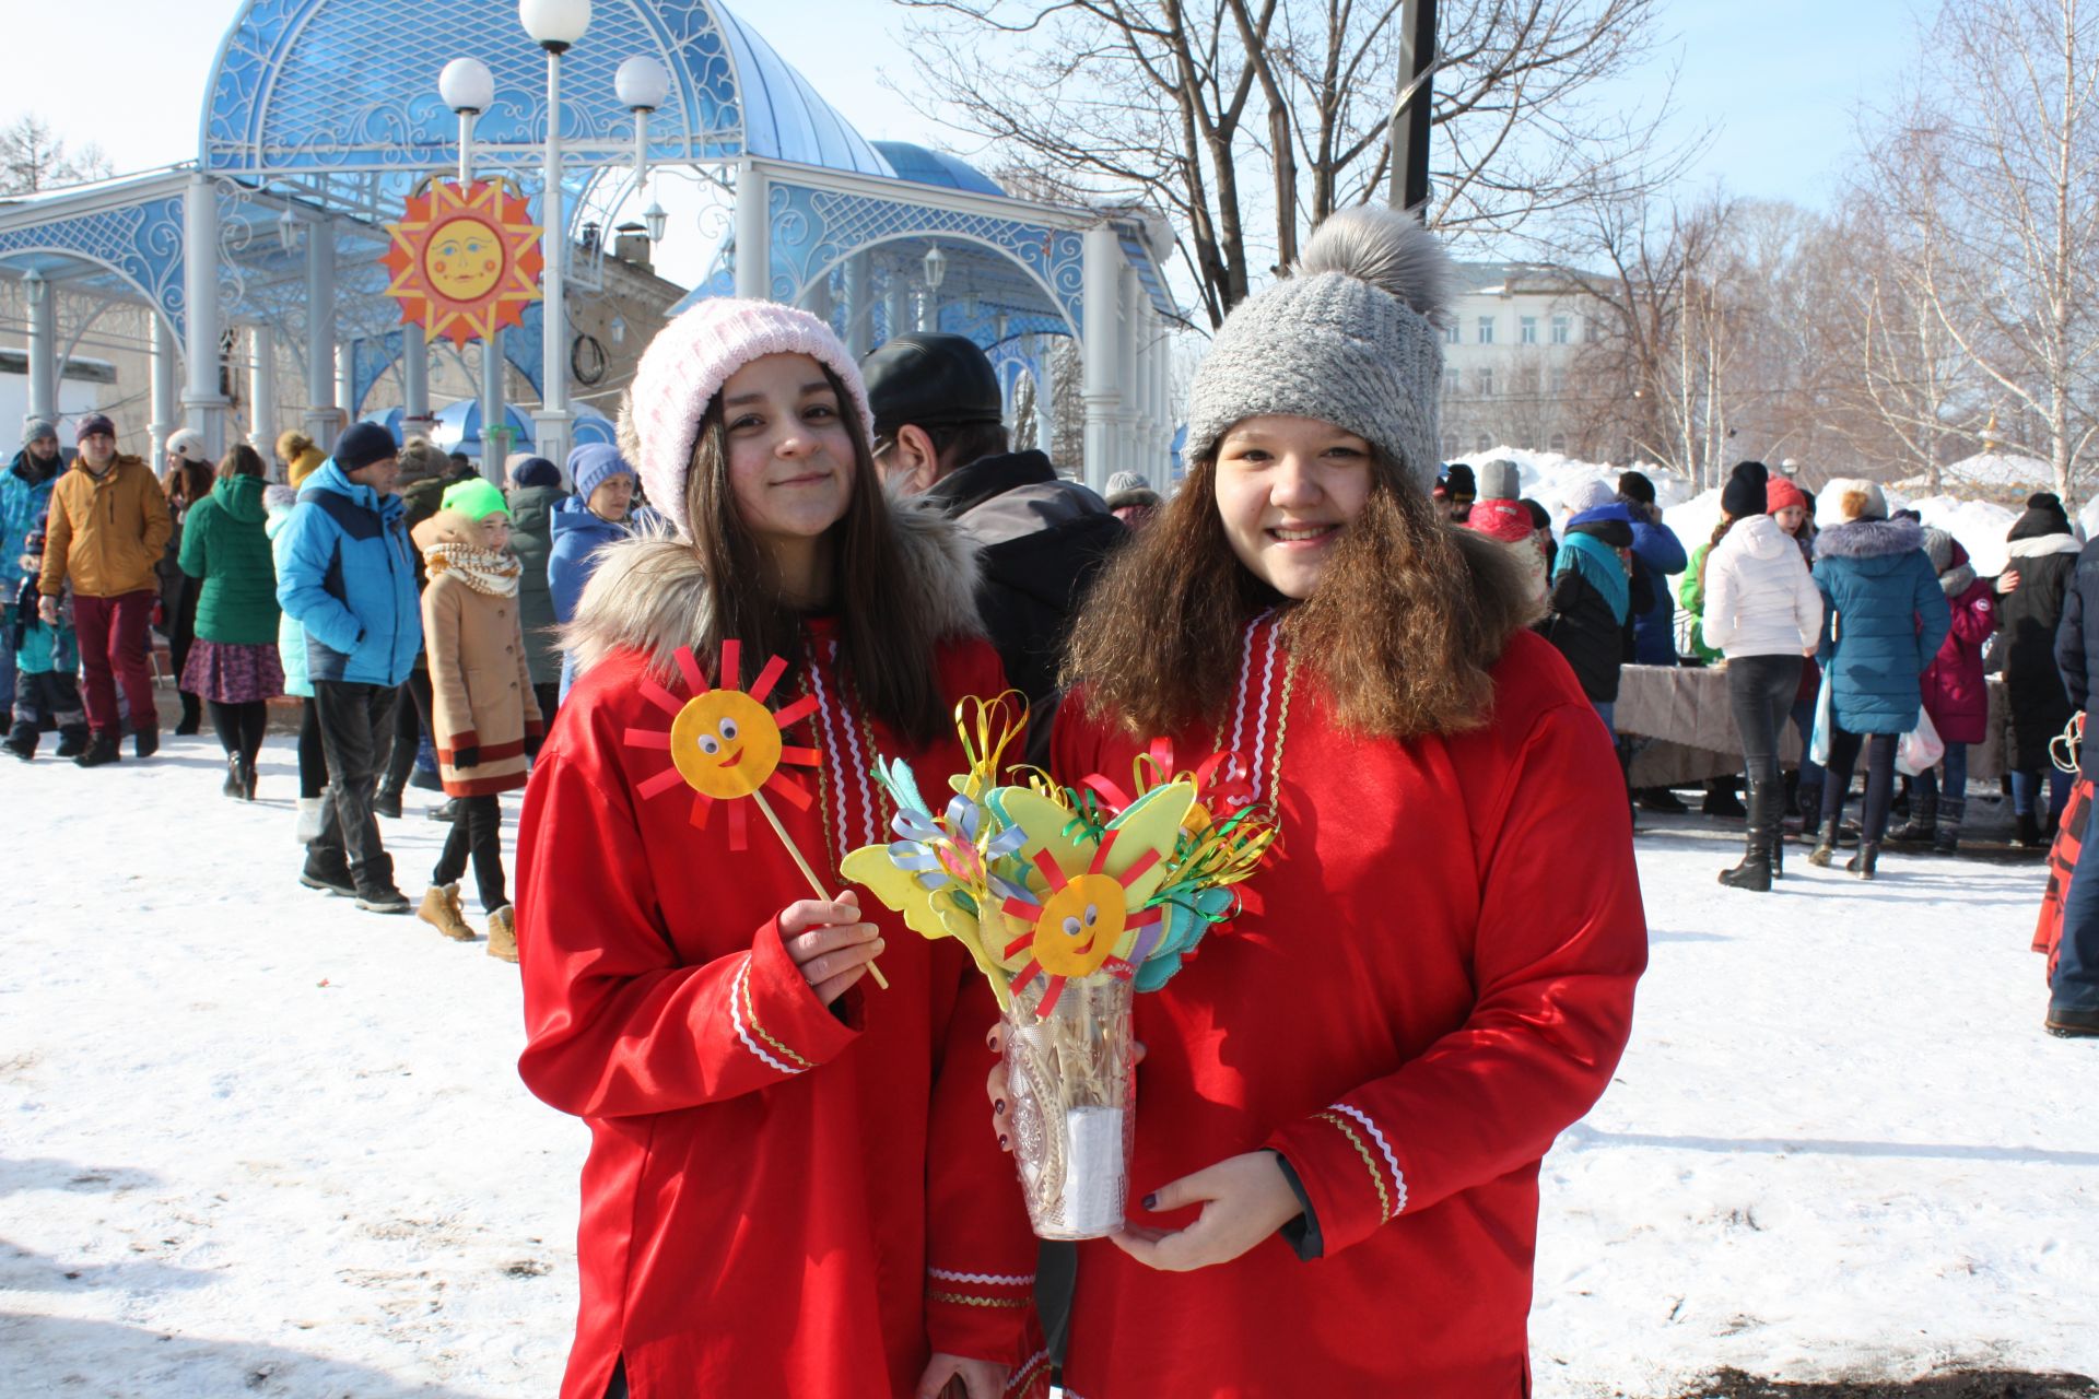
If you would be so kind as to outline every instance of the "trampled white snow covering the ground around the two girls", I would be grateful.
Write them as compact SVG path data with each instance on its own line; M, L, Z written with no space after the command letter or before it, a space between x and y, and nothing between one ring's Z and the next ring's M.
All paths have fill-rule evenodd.
M281 738L256 805L220 774L0 768L0 1393L552 1395L586 1135L518 1084L516 971L300 889ZM411 896L430 801L386 822ZM2038 866L1795 847L1759 898L1713 883L1738 849L1639 841L1654 961L1545 1166L1536 1393L2099 1372L2099 1045L2040 1032Z

